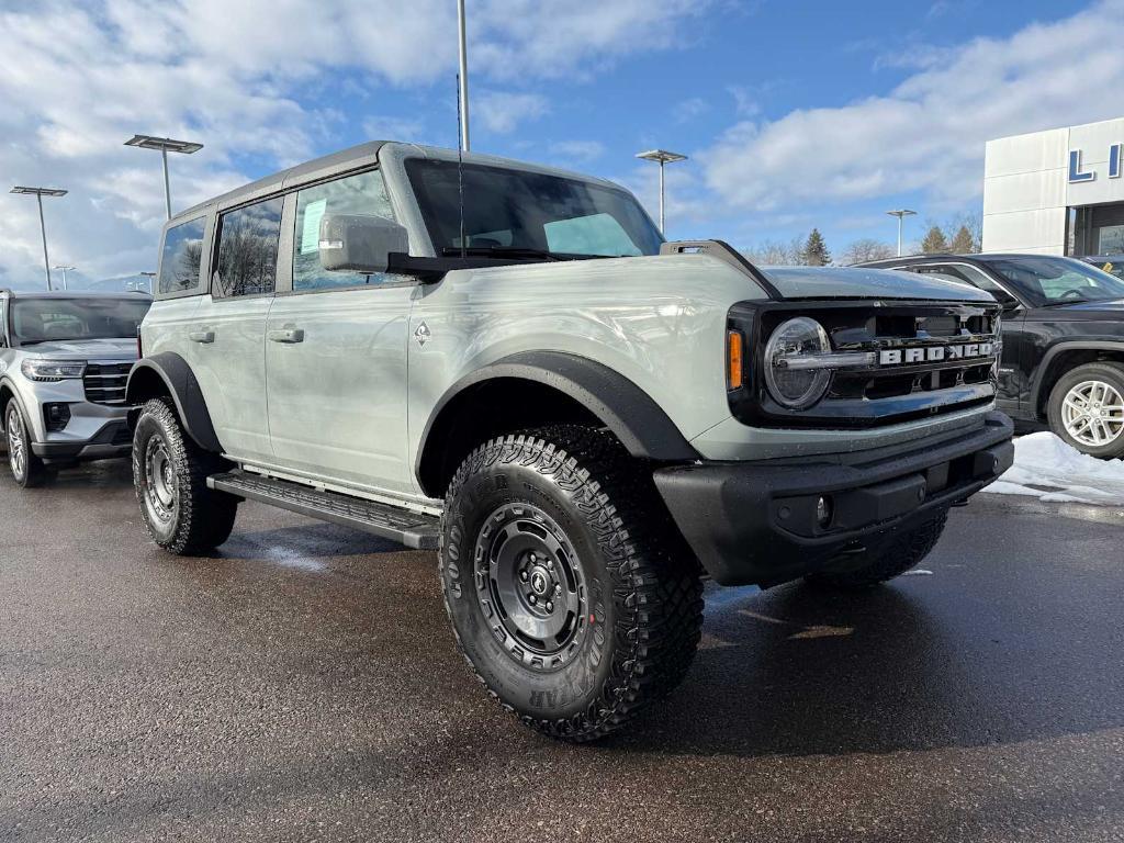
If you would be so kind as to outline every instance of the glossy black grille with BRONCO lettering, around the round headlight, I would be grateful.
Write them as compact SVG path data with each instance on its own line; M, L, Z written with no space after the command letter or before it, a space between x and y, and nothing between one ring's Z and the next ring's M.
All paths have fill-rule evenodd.
M954 413L995 399L1001 348L999 306L910 301L745 302L731 327L754 338L745 386L729 392L735 417L772 427L874 427ZM807 316L827 333L832 353L863 362L832 372L826 395L792 410L765 387L764 346L786 319Z

